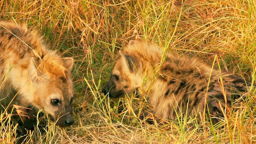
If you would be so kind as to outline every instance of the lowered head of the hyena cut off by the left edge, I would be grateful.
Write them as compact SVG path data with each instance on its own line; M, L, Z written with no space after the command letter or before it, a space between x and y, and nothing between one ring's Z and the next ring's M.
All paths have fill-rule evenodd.
M31 88L34 89L32 106L48 114L59 126L74 123L71 102L73 84L71 70L73 58L60 58L54 52L32 58L28 70Z

